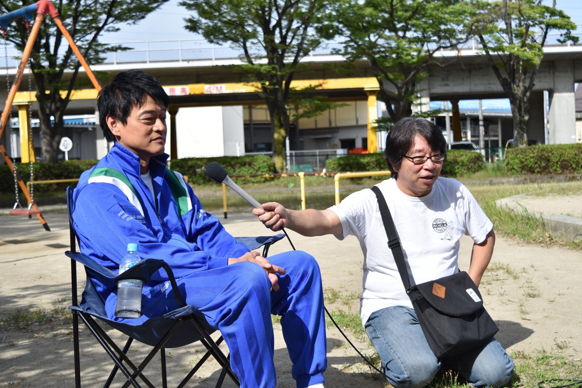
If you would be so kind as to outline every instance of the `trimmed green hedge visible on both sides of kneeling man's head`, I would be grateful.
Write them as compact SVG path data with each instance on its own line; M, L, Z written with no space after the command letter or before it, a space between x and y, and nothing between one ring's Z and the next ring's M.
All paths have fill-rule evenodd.
M474 174L485 168L483 156L480 153L464 150L448 150L443 163L441 175L445 177L462 177ZM339 171L383 171L388 170L384 153L356 154L328 159L325 170Z

